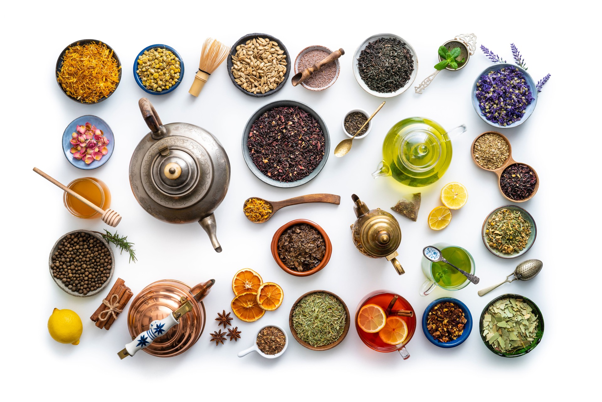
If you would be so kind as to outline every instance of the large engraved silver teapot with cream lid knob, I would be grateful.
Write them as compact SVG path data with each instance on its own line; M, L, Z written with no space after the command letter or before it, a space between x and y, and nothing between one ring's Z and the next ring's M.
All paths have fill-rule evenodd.
M138 204L164 222L199 222L220 253L213 212L226 196L230 181L225 149L196 125L163 125L149 99L141 98L138 105L151 129L129 162L129 184Z

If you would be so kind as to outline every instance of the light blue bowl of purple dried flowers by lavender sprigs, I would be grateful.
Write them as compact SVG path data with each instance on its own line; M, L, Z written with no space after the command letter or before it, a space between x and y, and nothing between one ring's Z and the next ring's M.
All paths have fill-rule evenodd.
M477 115L492 127L518 127L535 110L537 84L520 66L497 63L477 75L471 99Z

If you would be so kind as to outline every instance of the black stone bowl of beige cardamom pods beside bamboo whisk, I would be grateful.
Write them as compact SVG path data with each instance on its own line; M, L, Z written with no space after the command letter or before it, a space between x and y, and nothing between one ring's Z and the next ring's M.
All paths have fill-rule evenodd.
M249 56L251 55L251 53L253 53L253 58L255 58L255 52L258 53L259 56L259 65L258 68L253 69L253 72L256 72L257 75L259 75L259 77L257 77L257 75L252 75L252 74L247 74L248 68L250 67L250 64L247 64L243 61L243 59L236 60L237 56L237 47L238 46L246 46L247 41L249 40L253 40L255 39L257 41L258 38L261 38L264 40L267 39L267 43L263 43L263 42L259 42L257 45L252 44L253 48L249 49ZM276 43L276 45L274 45L273 43ZM267 47L267 45L270 45L268 49L264 49ZM281 57L281 60L285 60L284 63L282 64L282 62L279 61L278 64L280 64L282 67L284 67L284 71L278 71L279 69L281 70L280 66L278 66L278 68L276 69L276 74L272 75L273 71L267 71L266 69L269 68L265 66L265 64L270 64L270 62L267 62L267 59L264 58L264 54L265 51L271 52L272 49L275 49L275 46L278 46L278 48L280 49L278 52L282 52L281 54L274 54L275 57L278 56L284 56ZM259 49L261 48L261 49ZM261 54L259 54L260 52L262 52ZM276 52L276 53L278 53ZM235 58L232 58L232 56L234 56ZM246 58L246 60L250 60L250 58ZM261 66L261 64L264 64L264 66ZM288 53L287 47L284 46L284 43L281 42L281 40L279 40L278 38L272 36L272 35L268 35L268 34L260 34L260 33L253 33L253 34L247 34L243 37L241 37L240 39L238 39L234 45L232 45L232 48L230 49L230 54L228 55L228 58L226 58L226 67L228 68L228 75L230 76L230 79L232 80L232 84L234 84L235 87L238 88L238 90L240 90L241 92L243 92L245 95L249 95L249 96L253 96L253 98L264 98L265 96L270 96L275 94L276 92L278 92L279 90L282 89L282 87L285 86L285 84L288 81L288 75L290 75L291 72L291 66L290 66L290 54ZM237 72L237 73L235 73ZM244 76L241 76L241 72L244 73ZM282 75L280 74L282 72ZM236 74L236 76L235 76ZM276 75L278 75L277 78ZM252 77L252 78L249 78ZM248 79L247 79L248 78ZM261 83L261 79L264 78L264 83L262 84L258 84L255 85L255 83ZM274 80L272 80L274 78ZM271 81L270 81L271 80ZM267 81L267 82L266 82ZM276 81L279 81L278 83L276 83ZM267 86L264 86L266 85ZM263 91L261 90L263 89Z

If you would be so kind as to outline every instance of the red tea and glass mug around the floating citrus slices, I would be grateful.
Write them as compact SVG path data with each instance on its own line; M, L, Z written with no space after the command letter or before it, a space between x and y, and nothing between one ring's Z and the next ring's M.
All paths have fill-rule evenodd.
M397 299L396 299L397 297ZM393 303L394 301L394 303ZM393 303L393 305L391 305ZM390 345L385 343L379 336L379 333L368 333L364 331L358 324L358 316L359 310L367 304L376 304L380 306L387 315L387 318L391 316L399 316L396 312L406 312L404 316L400 316L400 318L405 321L408 327L408 334L402 343L399 345ZM392 313L393 312L393 313ZM411 316L408 316L409 312L411 312ZM416 330L416 314L411 304L409 304L408 300L401 297L400 295L391 292L391 291L374 291L370 294L366 295L364 300L362 300L358 304L358 309L355 312L355 329L358 331L359 339L367 345L367 347L376 350L378 352L394 352L399 351L399 354L402 355L403 360L408 359L410 354L408 350L405 348L405 345L412 339L414 336L414 331Z

